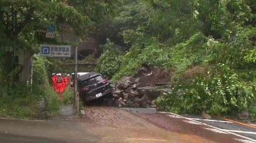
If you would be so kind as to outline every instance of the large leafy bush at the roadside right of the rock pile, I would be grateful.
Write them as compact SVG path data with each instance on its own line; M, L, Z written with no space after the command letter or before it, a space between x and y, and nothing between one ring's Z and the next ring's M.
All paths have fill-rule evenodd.
M171 112L227 115L249 109L255 102L254 83L244 82L225 64L209 67L207 76L179 83L170 94L157 99L158 107ZM252 108L251 111L253 111Z

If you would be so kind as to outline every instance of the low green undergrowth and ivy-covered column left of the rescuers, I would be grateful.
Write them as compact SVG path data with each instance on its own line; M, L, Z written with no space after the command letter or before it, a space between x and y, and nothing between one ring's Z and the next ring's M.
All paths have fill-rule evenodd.
M16 82L10 86L8 81L6 81L5 86L1 86L0 116L21 119L36 118L38 103L41 98L45 98L47 105L46 115L58 115L59 101L49 84L45 68L46 62L48 61L45 58L34 56L32 86L23 82ZM10 87L12 90L8 90Z

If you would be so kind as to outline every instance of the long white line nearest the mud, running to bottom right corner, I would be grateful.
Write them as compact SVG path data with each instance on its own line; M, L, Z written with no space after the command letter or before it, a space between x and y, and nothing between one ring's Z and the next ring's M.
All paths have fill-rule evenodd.
M171 114L171 115L180 116L180 115L177 115L176 113L171 113L171 112L161 112L161 113L169 113L169 114ZM199 121L197 121L197 120L189 119L189 118L186 118L186 117L183 117L183 116L180 116L180 117L181 117L181 118L184 118L184 119L187 119L187 120L191 120L191 121L200 123L200 124L203 124L203 125L208 126L208 127L212 127L212 128L214 128L214 129L216 129L216 130L224 131L223 129L220 129L220 128L218 128L218 127L211 126L211 125L209 125L209 124L205 124L205 123L199 122ZM237 137L245 138L246 140L253 141L254 143L256 143L256 140L254 140L254 139L252 139L252 138L244 137L243 135L236 134L236 133L232 133L232 132L230 132L230 131L225 131L225 132L226 132L226 133L229 133L229 134L236 135Z

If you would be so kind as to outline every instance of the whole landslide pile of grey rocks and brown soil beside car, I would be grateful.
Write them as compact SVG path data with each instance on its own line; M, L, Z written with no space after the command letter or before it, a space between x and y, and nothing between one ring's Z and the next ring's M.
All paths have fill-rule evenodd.
M164 86L157 87L154 85L154 82L157 81L157 85L159 84L161 80L159 75L165 80L165 83L161 84ZM155 108L154 100L162 93L170 92L172 87L169 82L166 82L170 78L162 75L163 73L159 69L152 69L144 73L138 72L133 77L123 78L112 85L113 93L112 98L107 99L108 105L115 107Z

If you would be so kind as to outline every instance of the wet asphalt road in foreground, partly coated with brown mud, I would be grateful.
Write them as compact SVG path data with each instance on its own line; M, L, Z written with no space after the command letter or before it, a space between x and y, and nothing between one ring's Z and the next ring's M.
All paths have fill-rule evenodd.
M0 142L253 142L151 109L86 107L80 119L63 107L62 114L45 121L0 119Z

